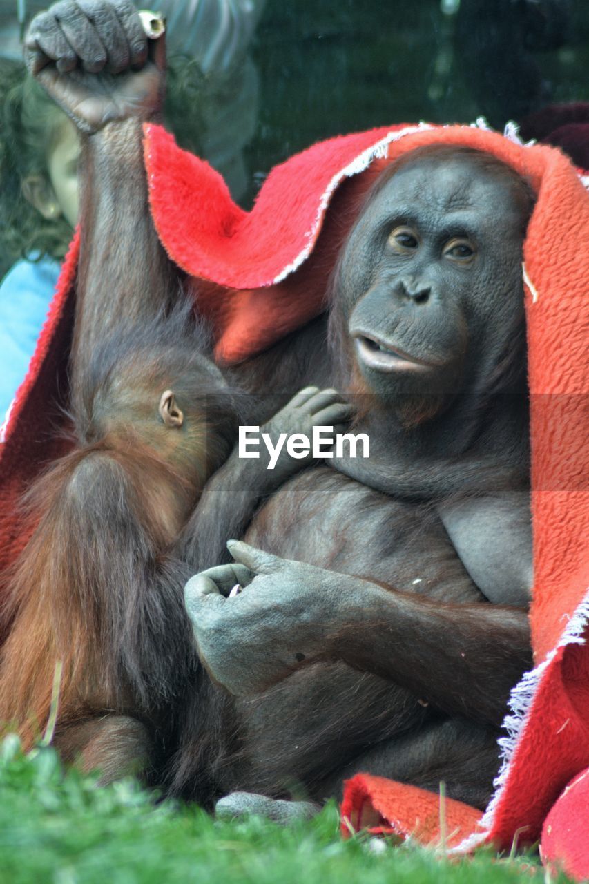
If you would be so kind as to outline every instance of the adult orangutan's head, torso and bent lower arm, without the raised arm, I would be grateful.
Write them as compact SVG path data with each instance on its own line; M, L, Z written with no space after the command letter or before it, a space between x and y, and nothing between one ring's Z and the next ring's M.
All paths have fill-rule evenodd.
M337 794L345 777L369 770L428 788L438 776L450 795L485 804L493 728L531 662L527 413L515 335L530 206L501 169L481 168L468 152L443 159L418 156L387 177L340 261L333 336L348 362L339 379L356 393L355 430L369 434L370 460L343 458L340 475L297 476L246 534L262 549L230 543L236 564L187 583L210 675L236 697L258 696L253 713L238 705L256 747L251 781L274 794L289 781L314 798ZM492 387L509 347L517 370L497 373ZM234 583L245 591L227 598ZM335 713L354 678L341 670L334 678L317 661L384 680L386 699L382 686L363 689L381 690L397 720L380 720L369 736L346 733ZM317 682L326 677L333 712L319 717L317 736ZM333 727L345 745L335 757ZM410 728L413 737L401 738ZM379 750L366 751L373 743ZM278 760L268 760L272 751Z

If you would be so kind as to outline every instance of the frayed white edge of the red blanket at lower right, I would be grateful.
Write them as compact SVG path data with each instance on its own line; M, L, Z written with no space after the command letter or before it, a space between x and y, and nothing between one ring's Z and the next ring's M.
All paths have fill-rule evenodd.
M567 614L563 614L566 617ZM501 736L497 741L500 747L501 769L495 780L493 788L495 793L486 808L483 817L478 821L478 826L483 829L481 832L474 832L463 840L456 847L448 850L448 853L470 853L478 847L479 844L486 842L488 835L493 829L495 812L501 802L503 791L509 780L509 773L512 758L516 752L520 738L524 735L524 730L530 718L532 704L536 694L538 693L540 684L550 668L550 664L555 659L556 653L568 644L585 644L583 633L589 623L589 588L585 592L585 598L580 603L575 613L570 617L566 628L562 632L556 647L547 653L546 659L530 672L524 673L522 680L516 684L511 691L509 697L509 714L503 721L503 729L507 731L506 736Z

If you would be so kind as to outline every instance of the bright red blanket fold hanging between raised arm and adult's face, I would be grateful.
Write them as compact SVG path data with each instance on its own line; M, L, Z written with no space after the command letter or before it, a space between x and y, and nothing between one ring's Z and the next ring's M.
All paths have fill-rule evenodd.
M214 325L220 361L240 362L317 316L341 243L387 161L354 177L346 169L402 129L314 145L276 166L254 209L244 212L208 163L179 150L159 126L146 126L157 232L172 261L197 280L198 309ZM300 269L289 272L297 262Z

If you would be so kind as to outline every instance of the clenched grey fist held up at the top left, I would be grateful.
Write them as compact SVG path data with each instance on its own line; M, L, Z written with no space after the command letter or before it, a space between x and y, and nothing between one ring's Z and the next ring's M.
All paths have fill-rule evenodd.
M83 133L152 118L161 106L164 37L148 41L129 0L53 4L31 21L25 61Z

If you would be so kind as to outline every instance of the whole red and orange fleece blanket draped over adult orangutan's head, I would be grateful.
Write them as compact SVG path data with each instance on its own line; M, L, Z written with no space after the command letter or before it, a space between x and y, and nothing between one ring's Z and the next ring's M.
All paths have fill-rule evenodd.
M344 832L371 827L465 850L509 850L541 838L545 861L589 876L589 467L585 361L589 319L589 195L558 150L485 126L393 126L334 138L276 167L250 212L218 174L146 126L152 215L172 261L195 279L221 362L239 362L325 309L330 268L379 172L422 145L486 150L526 176L537 203L524 243L531 392L535 668L516 685L501 737L501 773L481 814L369 774L348 781ZM427 187L427 182L424 182ZM66 258L28 375L2 431L0 567L27 539L17 499L62 453L67 353L78 241ZM138 260L141 257L138 256ZM105 280L108 285L108 280ZM465 697L468 703L468 697ZM445 812L445 813L444 813ZM445 825L440 831L440 819Z

